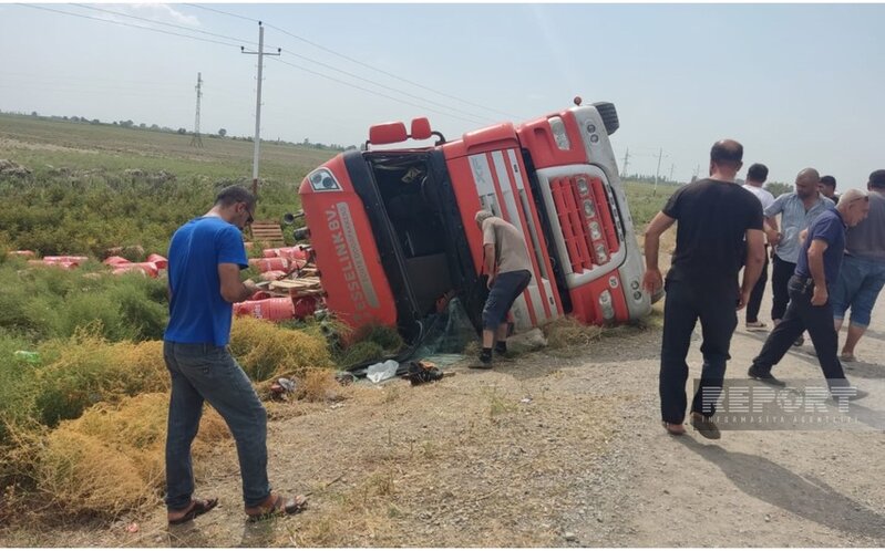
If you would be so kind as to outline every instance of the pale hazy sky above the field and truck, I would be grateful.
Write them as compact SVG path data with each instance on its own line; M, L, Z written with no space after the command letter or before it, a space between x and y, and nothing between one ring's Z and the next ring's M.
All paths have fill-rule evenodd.
M192 129L202 72L202 131L251 135L257 56L239 46L257 49L260 19L282 49L265 63L266 139L359 144L421 115L452 138L580 95L616 104L629 173L654 174L662 147L662 175L704 176L721 137L774 180L813 166L864 187L885 167L885 6L33 6L94 19L0 4L3 111Z

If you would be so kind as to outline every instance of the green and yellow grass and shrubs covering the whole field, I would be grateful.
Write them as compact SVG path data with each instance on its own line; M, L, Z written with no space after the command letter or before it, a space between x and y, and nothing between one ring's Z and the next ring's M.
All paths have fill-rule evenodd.
M192 147L191 136L173 133L0 115L0 159L24 168L0 174L0 524L14 517L14 503L53 496L66 496L56 505L71 516L113 516L162 496L165 281L113 277L97 260L116 246L140 245L142 257L164 253L175 228L205 212L219 188L250 184L251 143L203 144ZM298 209L303 176L336 154L285 144L263 144L261 152L256 218L274 220ZM638 232L671 193L655 196L651 186L630 181L626 190ZM73 271L34 269L8 258L13 249L93 260ZM231 351L259 391L272 377L292 376L321 401L329 385L337 387L336 364L368 360L353 357L360 345L377 356L402 344L384 329L340 350L320 329L316 321L238 319ZM587 329L573 332L583 339ZM206 445L222 433L205 435ZM143 446L126 448L133 438ZM119 482L90 470L109 454L135 457L141 462L131 467L141 478L127 478L125 466ZM111 481L89 484L102 480Z

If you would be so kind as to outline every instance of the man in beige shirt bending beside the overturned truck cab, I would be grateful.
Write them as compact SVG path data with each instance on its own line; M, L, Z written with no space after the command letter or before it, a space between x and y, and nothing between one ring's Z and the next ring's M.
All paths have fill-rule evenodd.
M532 281L532 264L525 238L515 226L488 210L480 210L475 219L483 232L483 273L488 276L488 298L483 306L483 351L471 367L491 370L492 345L498 354L507 352L507 312Z

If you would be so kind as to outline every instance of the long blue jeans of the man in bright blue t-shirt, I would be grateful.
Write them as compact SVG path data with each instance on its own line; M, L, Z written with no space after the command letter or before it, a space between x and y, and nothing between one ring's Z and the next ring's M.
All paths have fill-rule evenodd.
M203 402L225 419L237 443L243 500L256 507L270 496L267 480L267 412L249 377L225 346L165 341L163 358L172 376L166 434L166 507L186 508L194 493L191 444L199 429Z

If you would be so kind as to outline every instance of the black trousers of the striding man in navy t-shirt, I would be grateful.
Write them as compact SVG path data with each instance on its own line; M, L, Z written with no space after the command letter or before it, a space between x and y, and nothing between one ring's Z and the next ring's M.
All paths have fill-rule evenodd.
M811 297L814 284L806 278L793 277L789 282L790 305L786 306L781 323L769 334L762 352L753 358L753 367L762 373L770 373L793 345L803 331L814 344L814 352L821 363L821 370L829 386L844 386L845 372L838 361L838 335L833 326L833 306L830 301L822 306L814 306Z

